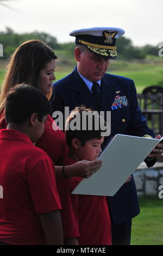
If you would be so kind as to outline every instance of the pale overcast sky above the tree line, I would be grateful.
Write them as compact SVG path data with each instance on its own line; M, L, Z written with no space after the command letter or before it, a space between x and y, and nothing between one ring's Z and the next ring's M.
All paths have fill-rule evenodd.
M0 31L45 32L58 42L74 41L69 33L89 27L120 27L134 46L163 42L162 0L1 0ZM1 43L1 38L0 38Z

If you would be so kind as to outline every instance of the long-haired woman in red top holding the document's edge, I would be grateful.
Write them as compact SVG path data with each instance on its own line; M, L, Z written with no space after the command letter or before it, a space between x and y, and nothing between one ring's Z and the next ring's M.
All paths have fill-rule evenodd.
M0 129L5 129L7 124L4 119L5 100L11 88L20 83L27 83L39 88L48 99L52 96L52 81L55 80L55 59L57 56L51 47L39 40L30 40L20 45L12 54L8 71L0 94ZM36 147L46 151L55 164L57 178L70 178L82 176L89 178L92 171L96 172L101 167L101 161L80 161L66 165L68 147L65 134L58 127L55 129L54 120L48 115L45 131L36 142Z

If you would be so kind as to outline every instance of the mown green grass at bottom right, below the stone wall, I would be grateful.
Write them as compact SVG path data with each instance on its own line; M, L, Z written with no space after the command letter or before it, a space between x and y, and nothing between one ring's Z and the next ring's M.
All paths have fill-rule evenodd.
M133 218L131 245L163 245L163 199L140 197L141 213Z

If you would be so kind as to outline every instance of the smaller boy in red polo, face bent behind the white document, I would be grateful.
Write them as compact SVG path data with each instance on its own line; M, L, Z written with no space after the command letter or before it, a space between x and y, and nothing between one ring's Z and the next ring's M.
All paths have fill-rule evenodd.
M92 119L92 130L88 129L89 118L86 120L86 130L82 130L83 111L90 109L78 107L71 112L66 121L65 134L70 149L70 158L66 164L96 160L102 151L104 137L101 136L102 130L96 130L95 125L95 121L99 121L99 116L96 114ZM80 130L71 129L75 118L80 123ZM79 177L57 179L65 245L111 245L111 223L106 197L72 194L81 180Z

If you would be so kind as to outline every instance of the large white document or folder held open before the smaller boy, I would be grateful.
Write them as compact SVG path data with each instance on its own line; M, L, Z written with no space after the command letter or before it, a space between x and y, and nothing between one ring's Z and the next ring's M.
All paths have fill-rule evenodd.
M117 134L99 156L101 169L83 179L72 194L114 196L162 139Z

